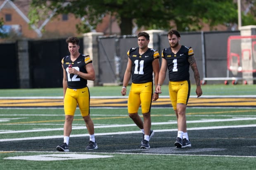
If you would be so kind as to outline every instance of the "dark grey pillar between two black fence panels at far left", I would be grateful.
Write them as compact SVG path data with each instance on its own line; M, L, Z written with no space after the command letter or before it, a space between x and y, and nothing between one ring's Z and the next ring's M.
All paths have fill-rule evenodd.
M19 88L30 88L28 40L18 40Z

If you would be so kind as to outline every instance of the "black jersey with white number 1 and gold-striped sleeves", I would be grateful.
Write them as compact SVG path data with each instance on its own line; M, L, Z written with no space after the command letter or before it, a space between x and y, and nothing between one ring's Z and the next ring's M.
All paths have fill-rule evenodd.
M192 47L181 46L177 54L174 54L171 47L162 52L162 58L166 59L171 82L185 81L190 79L190 63L188 58L194 55Z

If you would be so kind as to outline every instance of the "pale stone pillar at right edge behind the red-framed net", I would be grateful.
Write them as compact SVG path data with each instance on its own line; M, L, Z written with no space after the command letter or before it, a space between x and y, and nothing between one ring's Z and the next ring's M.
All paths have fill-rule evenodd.
M240 27L241 36L256 35L256 26ZM247 81L247 84L254 84L253 70L256 62L254 61L252 51L252 39L242 38L241 40L241 56L242 56L242 79Z

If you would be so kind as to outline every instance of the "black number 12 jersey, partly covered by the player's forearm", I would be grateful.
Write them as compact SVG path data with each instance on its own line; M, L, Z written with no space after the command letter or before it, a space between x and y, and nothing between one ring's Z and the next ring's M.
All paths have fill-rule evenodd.
M72 67L75 68L76 70L87 73L85 69L85 65L88 63L92 63L90 56L88 55L85 56L83 54L80 54L80 56L78 56L78 58L74 62L71 61L70 56L66 56L62 58L62 65L66 70L68 88L79 89L87 86L87 79L83 79L78 75L69 74L68 69L69 69L69 65L72 65Z

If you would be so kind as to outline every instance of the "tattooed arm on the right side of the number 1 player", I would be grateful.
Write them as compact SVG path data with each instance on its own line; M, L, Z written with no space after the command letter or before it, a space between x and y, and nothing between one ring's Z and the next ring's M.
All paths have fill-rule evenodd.
M197 89L196 89L197 97L200 97L203 92L201 89L200 75L199 75L199 71L197 68L197 62L196 62L194 55L190 56L188 58L188 62L190 63L190 67L192 68L192 70L194 72L194 79L195 79L196 85L197 85Z

